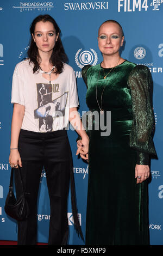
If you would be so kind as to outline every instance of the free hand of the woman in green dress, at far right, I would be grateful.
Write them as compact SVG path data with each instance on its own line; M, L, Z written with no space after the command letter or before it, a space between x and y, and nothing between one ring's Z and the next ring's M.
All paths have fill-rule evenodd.
M143 165L143 164L136 164L135 166L135 179L137 178L136 183L142 183L146 179L149 178L150 172L149 172L149 166Z

